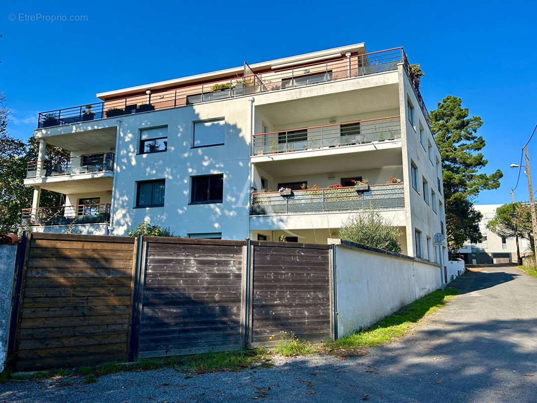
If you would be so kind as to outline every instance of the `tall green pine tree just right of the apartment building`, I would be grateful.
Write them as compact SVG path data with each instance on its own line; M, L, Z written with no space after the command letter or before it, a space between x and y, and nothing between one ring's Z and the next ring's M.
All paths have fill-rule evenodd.
M503 173L499 169L490 175L480 173L488 162L481 153L485 140L476 134L483 121L479 116L469 117L461 98L446 96L430 116L442 157L446 234L453 254L468 239L481 238L482 214L474 209L473 200L482 190L497 189Z

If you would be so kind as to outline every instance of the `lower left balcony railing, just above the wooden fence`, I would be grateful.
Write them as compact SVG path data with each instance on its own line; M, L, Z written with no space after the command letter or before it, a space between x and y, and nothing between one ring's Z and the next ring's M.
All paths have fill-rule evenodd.
M98 224L110 220L110 204L24 208L24 226Z

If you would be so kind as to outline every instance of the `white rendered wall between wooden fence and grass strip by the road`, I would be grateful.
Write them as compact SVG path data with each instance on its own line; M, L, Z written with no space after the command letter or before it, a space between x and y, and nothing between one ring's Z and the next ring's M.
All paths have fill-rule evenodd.
M334 246L338 337L371 326L441 287L434 263L344 243Z

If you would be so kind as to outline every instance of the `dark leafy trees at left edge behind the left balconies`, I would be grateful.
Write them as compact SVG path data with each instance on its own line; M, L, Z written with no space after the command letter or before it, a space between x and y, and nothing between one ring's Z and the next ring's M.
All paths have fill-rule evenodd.
M20 212L32 205L33 188L24 185L28 162L37 160L39 141L33 136L28 142L13 138L7 130L10 111L3 93L0 93L0 233L18 232ZM47 146L47 159L60 159L68 152ZM40 206L60 205L61 195L41 191Z

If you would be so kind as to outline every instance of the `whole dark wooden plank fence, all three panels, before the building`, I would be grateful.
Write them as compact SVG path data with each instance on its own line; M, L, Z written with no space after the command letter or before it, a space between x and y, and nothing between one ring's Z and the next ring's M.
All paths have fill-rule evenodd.
M31 234L17 370L333 337L332 247ZM271 337L271 336L275 337Z

